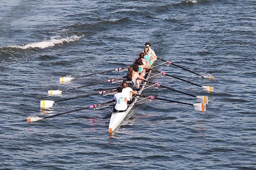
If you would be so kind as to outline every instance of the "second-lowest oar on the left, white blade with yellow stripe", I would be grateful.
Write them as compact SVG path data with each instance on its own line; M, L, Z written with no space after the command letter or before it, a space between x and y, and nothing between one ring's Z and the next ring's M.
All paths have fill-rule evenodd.
M60 100L56 100L56 101L41 100L40 101L40 107L41 108L49 108L49 107L52 107L53 104L56 103L56 102L62 102L62 101L71 100L71 99L77 99L77 98L84 98L84 97L87 97L87 96L93 96L93 95L97 95L97 94L102 94L102 96L103 96L104 93L114 92L114 91L116 91L116 88L109 89L109 90L102 90L102 91L99 91L99 92L95 92L95 93L91 93L91 94L86 94L86 95L74 96L74 97L66 98L66 99L60 99Z

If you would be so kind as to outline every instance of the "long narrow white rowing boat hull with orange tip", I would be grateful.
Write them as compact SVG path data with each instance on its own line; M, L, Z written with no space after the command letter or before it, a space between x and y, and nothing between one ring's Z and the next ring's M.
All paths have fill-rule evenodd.
M150 70L146 77L146 80L148 80L148 78L151 78L150 77L150 74L151 74L152 70ZM138 91L138 94L141 94L142 91L144 89L146 89L146 84L147 82L144 82L143 84L141 84L140 86L140 90ZM149 86L151 87L151 86ZM147 87L148 88L148 87ZM114 132L114 130L116 130L116 128L118 127L118 125L120 125L120 123L122 123L122 121L124 120L124 118L128 115L128 113L131 111L132 107L134 107L134 105L136 104L138 98L133 98L133 101L132 103L128 106L128 108L126 109L126 111L123 111L123 112L115 112L114 109L112 111L112 115L111 115L111 118L110 118L110 122L109 122L109 126L108 126L108 131L109 133L112 133Z

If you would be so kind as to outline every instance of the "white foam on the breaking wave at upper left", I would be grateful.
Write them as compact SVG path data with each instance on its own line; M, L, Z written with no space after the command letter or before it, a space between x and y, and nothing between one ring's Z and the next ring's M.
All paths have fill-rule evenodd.
M63 44L64 42L69 43L69 42L72 42L72 41L78 41L81 38L82 38L82 36L73 35L71 37L62 38L62 39L50 39L50 40L47 40L47 41L41 41L41 42L36 42L36 43L28 43L26 45L11 45L11 46L8 46L8 47L19 48L19 49L30 49L30 48L45 49L47 47L53 47L56 44Z

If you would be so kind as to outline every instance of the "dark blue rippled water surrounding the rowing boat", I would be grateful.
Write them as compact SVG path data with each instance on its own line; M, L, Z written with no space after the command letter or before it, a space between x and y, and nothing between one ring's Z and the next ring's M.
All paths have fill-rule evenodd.
M255 169L256 2L254 0L77 1L2 0L0 3L0 168L2 169ZM60 85L60 76L130 65L150 41L176 68L152 81L196 96L208 95L205 113L193 107L142 102L110 136L108 110L43 117L111 100L91 96L40 110L57 100L113 88L103 84L48 96L48 90L123 76L102 74ZM158 63L161 63L158 61ZM162 98L196 103L169 90Z

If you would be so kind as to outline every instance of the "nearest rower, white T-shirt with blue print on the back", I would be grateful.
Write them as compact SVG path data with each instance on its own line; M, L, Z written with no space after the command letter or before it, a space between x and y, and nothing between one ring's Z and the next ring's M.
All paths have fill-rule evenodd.
M117 111L123 111L127 109L127 98L122 93L122 86L117 87L117 93L114 95L113 101L116 101L115 109Z

